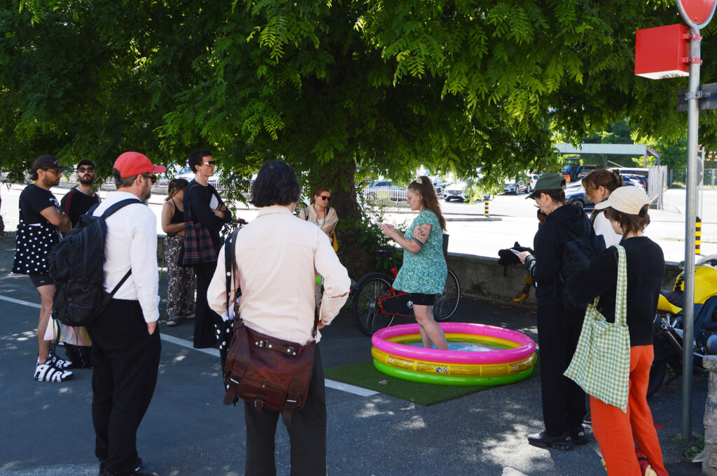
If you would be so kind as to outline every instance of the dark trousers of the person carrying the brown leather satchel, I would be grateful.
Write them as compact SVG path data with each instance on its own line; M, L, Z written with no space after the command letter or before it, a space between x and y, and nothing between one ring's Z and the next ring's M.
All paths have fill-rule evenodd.
M244 402L247 423L247 456L244 476L275 476L276 424L280 413L257 411ZM326 476L326 389L323 363L316 346L309 394L304 407L291 416L287 428L291 445L291 476Z

